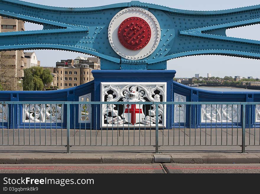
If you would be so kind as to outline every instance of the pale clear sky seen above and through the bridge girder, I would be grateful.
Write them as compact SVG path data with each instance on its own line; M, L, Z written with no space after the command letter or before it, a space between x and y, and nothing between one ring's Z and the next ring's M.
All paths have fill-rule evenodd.
M106 4L129 2L125 0L110 0L110 1L82 1L82 0L26 0L36 4L44 4L48 6L61 7L93 7ZM158 0L146 0L142 2L158 4ZM187 10L222 10L231 9L243 6L251 6L260 4L259 0L160 0L160 5L168 6L176 9ZM25 24L25 30L41 30L42 26L31 23ZM260 40L260 25L252 25L248 27L234 28L226 31L227 36L237 38L247 38ZM30 50L31 51L31 50ZM87 56L82 53L74 53L69 51L58 50L35 50L37 58L41 61L41 66L55 66L56 61L62 59L74 59L77 56ZM167 62L167 69L177 71L175 77L193 77L195 74L207 77L210 73L215 77L224 76L253 76L260 77L260 60L246 59L230 56L189 56L177 59L172 59Z

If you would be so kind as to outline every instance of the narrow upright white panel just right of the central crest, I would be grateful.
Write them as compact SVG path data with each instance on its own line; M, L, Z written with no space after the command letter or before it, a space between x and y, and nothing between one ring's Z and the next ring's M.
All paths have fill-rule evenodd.
M174 93L174 102L186 102L186 96ZM174 123L184 123L185 121L185 105L174 105Z

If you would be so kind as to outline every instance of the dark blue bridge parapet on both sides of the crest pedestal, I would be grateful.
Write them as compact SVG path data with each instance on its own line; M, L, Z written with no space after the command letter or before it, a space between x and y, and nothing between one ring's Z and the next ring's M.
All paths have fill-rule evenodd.
M28 102L32 101L35 103L31 103L31 107L29 108L29 111L32 113L32 110L34 110L33 107L34 105L36 106L37 103L36 101L39 102L50 102L50 101L55 101L55 102L79 102L79 101L96 101L100 94L95 94L95 84L94 81L91 81L87 84L83 84L77 87L73 87L70 89L63 89L63 90L56 90L56 91L1 91L0 92L0 101L3 103L6 101L9 102ZM169 99L171 99L174 102L211 102L211 106L205 106L205 104L201 105L185 105L185 107L181 106L176 106L176 105L168 105L167 106L167 115L171 120L171 123L167 124L168 128L173 128L173 127L181 127L183 128L184 126L190 126L192 128L195 127L200 127L200 126L206 126L206 125L212 125L212 122L214 119L212 118L212 115L209 116L209 110L212 109L217 109L215 112L217 114L221 114L222 112L225 115L225 111L228 111L228 114L233 114L231 112L235 112L235 116L238 116L237 121L230 122L228 119L223 119L222 116L219 117L219 120L217 122L214 122L215 125L217 126L226 126L228 128L232 126L238 126L241 128L242 126L242 120L241 120L241 115L242 115L242 108L240 105L232 105L232 103L229 103L228 107L226 105L222 105L222 107L216 107L215 102L256 102L254 104L246 105L246 127L259 127L259 119L257 119L260 111L260 107L258 104L260 104L260 92L215 92L215 91L206 91L202 89L197 89L195 87L188 87L183 84L179 84L175 81L172 82L171 84L171 95ZM81 98L81 99L80 99ZM258 103L257 103L258 102ZM181 103L180 103L181 104ZM213 107L212 107L213 105ZM205 108L207 107L207 110ZM42 108L45 109L46 107ZM48 107L47 107L48 108ZM62 107L57 107L58 109L61 108L64 113L66 113L66 106ZM84 108L84 107L83 107ZM168 109L169 108L169 109ZM184 109L183 109L184 108ZM223 109L224 108L224 109ZM1 109L1 105L0 105ZM9 120L4 120L3 127L8 128L8 126L13 126L15 128L18 127L18 125L25 126L25 128L29 128L29 125L35 125L37 127L40 126L40 122L35 123L32 121L29 122L23 122L25 119L23 117L23 107L22 105L12 105L9 104L8 106L8 117ZM38 107L40 109L40 107ZM56 107L53 107L52 109L56 110ZM93 107L92 107L93 109ZM100 107L96 107L96 110L92 110L92 120L100 120L98 117L100 115ZM203 109L203 110L202 110ZM231 110L228 110L231 109ZM213 111L213 115L215 112ZM40 110L36 110L40 111ZM42 110L41 110L42 111ZM183 112L180 114L177 114L178 112ZM229 111L231 111L229 113ZM184 114L184 115L183 115ZM18 116L19 115L19 116ZM207 119L206 119L206 116ZM71 121L71 126L72 123L75 125L76 128L81 128L80 127L80 122L79 122L79 107L71 107L70 110L70 121ZM182 118L181 118L182 116ZM180 119L178 118L180 117ZM204 119L205 117L205 119ZM230 116L231 117L231 116ZM51 119L51 118L50 118ZM213 120L212 120L213 119ZM222 120L221 120L222 119ZM66 126L66 120L67 120L67 115L63 115L62 120L58 120L59 122L55 122L55 120L52 120L52 122L47 123L46 127L51 128L51 125L55 123L55 126L57 125L58 128L62 128L63 126ZM217 120L215 118L215 120ZM231 119L233 120L233 119ZM78 122L76 122L78 121ZM211 121L211 122L210 122ZM97 123L98 121L95 121ZM210 123L210 124L209 124ZM42 124L41 124L42 125ZM74 127L74 126L73 126ZM98 126L100 127L99 123Z

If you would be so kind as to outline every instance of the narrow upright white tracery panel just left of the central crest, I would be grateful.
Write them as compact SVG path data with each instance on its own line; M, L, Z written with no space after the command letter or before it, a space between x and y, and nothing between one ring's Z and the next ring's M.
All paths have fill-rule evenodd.
M79 97L79 102L90 102L91 93ZM79 123L90 123L91 120L91 105L79 105Z

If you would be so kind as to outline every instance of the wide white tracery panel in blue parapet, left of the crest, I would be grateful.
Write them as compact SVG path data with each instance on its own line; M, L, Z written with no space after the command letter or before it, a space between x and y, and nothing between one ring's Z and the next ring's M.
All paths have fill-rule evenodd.
M23 122L61 123L63 121L62 104L25 104L23 105Z

